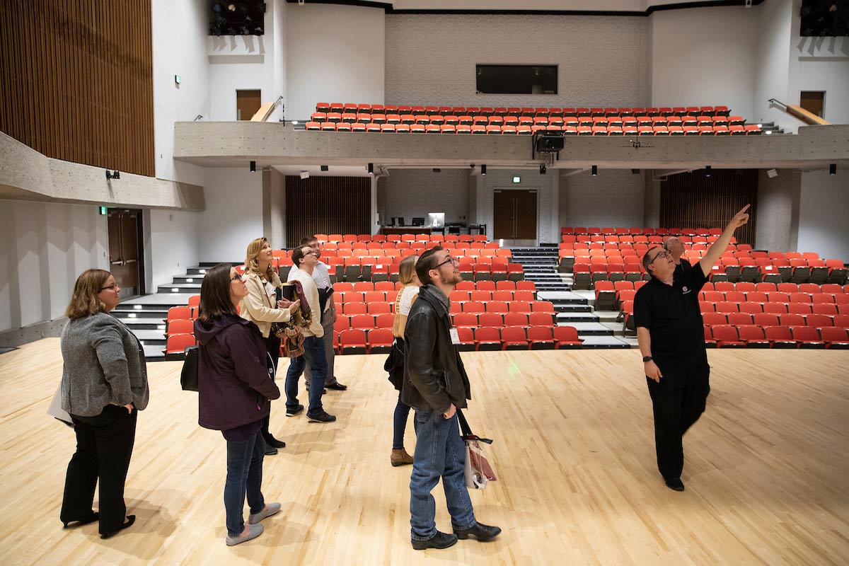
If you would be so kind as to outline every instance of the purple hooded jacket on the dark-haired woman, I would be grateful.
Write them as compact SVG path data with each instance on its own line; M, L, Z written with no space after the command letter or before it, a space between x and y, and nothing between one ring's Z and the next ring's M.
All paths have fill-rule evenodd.
M198 339L198 423L228 430L267 417L270 399L280 397L267 366L265 339L242 317L211 325L194 321Z

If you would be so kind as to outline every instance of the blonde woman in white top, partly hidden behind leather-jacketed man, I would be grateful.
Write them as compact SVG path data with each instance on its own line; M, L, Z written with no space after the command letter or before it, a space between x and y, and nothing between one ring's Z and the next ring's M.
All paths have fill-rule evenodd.
M401 385L404 378L403 356L406 352L404 327L407 326L407 316L410 314L413 301L419 298L419 286L421 286L419 276L416 275L416 261L418 259L418 255L409 255L398 266L398 280L401 281L403 287L395 300L395 319L392 321L392 335L395 336L395 343L392 345L393 351L390 357L393 361L393 367L387 368L390 369L391 383L395 385L395 389L398 389L390 458L393 466L413 463L413 457L404 450L404 430L407 428L410 406L401 401Z

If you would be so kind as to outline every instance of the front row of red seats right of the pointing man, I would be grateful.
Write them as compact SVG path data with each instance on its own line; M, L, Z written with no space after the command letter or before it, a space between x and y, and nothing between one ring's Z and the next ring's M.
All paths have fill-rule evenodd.
M705 344L716 348L829 348L849 349L845 328L756 325L705 327Z

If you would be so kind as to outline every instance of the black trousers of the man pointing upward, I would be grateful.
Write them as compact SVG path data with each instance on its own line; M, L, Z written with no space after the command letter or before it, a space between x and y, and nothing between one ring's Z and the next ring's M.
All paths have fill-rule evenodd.
M660 367L660 383L646 378L655 412L657 468L665 479L680 478L684 467L683 434L705 412L711 392L711 368L706 363L677 369L666 364Z

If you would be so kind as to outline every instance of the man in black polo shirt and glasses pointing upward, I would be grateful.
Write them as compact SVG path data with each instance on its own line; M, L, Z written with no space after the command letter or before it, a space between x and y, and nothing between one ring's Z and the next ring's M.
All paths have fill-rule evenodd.
M745 205L698 264L676 273L670 251L649 249L643 266L651 280L634 297L634 321L655 413L657 468L666 486L683 491L683 434L705 411L711 390L699 291L728 249L734 230L749 221Z

